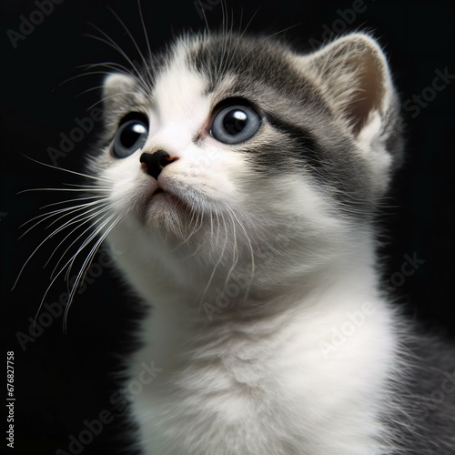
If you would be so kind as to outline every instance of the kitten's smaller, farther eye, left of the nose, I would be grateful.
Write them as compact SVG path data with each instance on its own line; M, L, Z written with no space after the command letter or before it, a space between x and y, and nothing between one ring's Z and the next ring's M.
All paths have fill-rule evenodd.
M117 158L129 157L147 141L148 125L144 116L124 121L116 131L113 153Z

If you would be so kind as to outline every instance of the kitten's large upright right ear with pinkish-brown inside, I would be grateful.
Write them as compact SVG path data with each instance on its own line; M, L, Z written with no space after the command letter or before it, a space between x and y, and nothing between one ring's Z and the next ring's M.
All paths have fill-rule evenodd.
M375 113L389 120L395 103L389 66L368 35L346 35L299 59L306 74L322 83L330 106L354 136L359 136Z

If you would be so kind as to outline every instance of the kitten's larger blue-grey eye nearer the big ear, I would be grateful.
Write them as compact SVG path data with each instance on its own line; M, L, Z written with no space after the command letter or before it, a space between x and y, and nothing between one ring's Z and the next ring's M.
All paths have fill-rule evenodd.
M210 134L219 142L239 144L254 136L260 124L260 116L251 107L232 105L218 112Z

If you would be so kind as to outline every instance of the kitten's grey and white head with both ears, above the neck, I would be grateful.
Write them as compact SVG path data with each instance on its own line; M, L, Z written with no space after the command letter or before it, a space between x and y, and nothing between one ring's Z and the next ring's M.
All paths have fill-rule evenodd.
M91 167L121 217L112 236L208 275L327 267L369 231L400 160L389 68L368 35L309 55L186 36L107 76L104 97L108 146Z

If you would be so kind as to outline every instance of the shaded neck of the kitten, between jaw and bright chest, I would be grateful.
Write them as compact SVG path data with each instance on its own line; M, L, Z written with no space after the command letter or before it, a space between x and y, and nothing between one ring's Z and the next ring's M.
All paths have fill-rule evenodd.
M134 228L140 232L140 228ZM191 255L179 258L170 247L158 244L144 247L146 239L142 241L140 234L131 242L114 230L109 239L122 251L116 262L126 279L156 313L160 308L166 311L172 307L197 319L201 310L212 308L226 317L229 309L267 308L275 300L288 301L293 306L292 302L305 301L345 283L350 283L353 293L361 293L361 289L370 293L378 283L375 243L369 229L358 229L349 244L332 244L325 257L309 258L303 264L300 262L304 261L294 264L289 261L282 270L277 265L279 270L274 271L273 277L262 273L260 259L255 269L239 264L222 270L218 264L213 268L201 265L200 259L197 261ZM182 305L184 308L180 308Z

